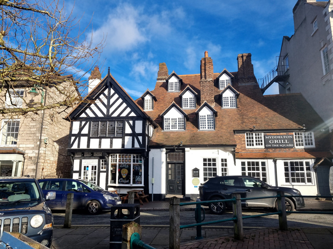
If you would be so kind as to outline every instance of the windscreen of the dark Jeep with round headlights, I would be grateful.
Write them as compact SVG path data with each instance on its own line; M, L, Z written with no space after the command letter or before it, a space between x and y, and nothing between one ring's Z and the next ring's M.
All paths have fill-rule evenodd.
M39 201L40 194L34 181L1 181L0 203Z

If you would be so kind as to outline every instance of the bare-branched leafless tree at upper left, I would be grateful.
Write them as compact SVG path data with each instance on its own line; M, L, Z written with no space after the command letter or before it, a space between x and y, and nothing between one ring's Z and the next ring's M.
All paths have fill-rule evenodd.
M0 12L0 114L73 107L84 87L81 77L99 59L103 41L93 46L92 35L86 39L86 28L80 30L80 19L57 0L0 0ZM38 101L27 89L40 93Z

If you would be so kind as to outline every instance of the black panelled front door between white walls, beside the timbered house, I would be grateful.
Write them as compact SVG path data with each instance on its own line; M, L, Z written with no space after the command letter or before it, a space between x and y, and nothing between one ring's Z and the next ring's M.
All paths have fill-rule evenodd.
M168 163L167 194L182 195L184 177L183 163Z

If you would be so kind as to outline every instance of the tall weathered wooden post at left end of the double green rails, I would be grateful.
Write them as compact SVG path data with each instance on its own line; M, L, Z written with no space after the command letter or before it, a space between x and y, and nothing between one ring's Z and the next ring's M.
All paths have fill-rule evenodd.
M169 225L169 249L180 248L180 199L173 196L170 199L170 225Z

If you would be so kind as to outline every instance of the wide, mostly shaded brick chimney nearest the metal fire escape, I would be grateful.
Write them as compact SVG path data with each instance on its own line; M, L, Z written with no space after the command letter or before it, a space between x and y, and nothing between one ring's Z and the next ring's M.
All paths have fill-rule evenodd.
M253 65L251 62L251 54L239 54L237 56L238 61L238 85L251 85L258 84L257 79L254 76Z

